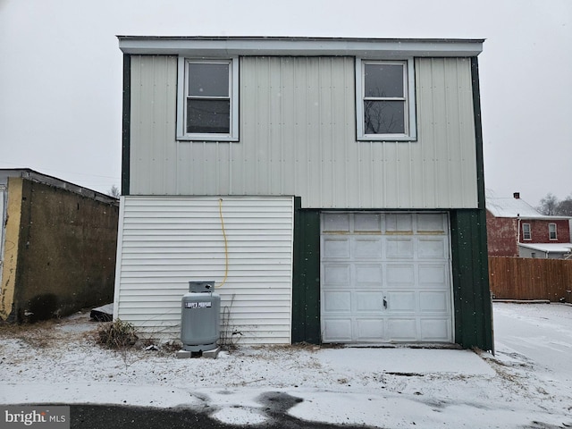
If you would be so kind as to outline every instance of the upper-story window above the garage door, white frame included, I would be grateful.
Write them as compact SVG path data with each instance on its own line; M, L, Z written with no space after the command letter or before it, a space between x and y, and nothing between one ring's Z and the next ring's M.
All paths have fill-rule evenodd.
M414 140L413 59L356 61L358 140Z

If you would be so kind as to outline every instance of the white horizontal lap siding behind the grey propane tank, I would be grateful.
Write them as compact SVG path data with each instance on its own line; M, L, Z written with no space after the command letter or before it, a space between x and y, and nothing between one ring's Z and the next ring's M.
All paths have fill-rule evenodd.
M290 343L293 222L293 198L223 197L229 266L215 291L241 344ZM219 198L123 198L119 240L115 315L178 338L189 281L223 282Z

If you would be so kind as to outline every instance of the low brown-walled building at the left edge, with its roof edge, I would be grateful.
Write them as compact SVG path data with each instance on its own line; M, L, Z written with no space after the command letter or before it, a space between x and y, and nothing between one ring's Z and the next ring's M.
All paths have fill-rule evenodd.
M112 302L116 198L0 169L0 318L31 322Z

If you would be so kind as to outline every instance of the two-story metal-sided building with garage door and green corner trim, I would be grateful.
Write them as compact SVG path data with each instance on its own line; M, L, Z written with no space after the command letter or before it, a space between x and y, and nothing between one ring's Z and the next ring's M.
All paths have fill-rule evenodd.
M114 315L177 338L492 349L483 40L120 36Z

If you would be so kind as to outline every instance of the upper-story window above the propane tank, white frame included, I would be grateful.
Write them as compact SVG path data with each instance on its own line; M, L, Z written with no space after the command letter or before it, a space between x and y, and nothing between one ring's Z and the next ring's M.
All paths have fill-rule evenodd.
M179 58L177 139L239 139L238 59Z

